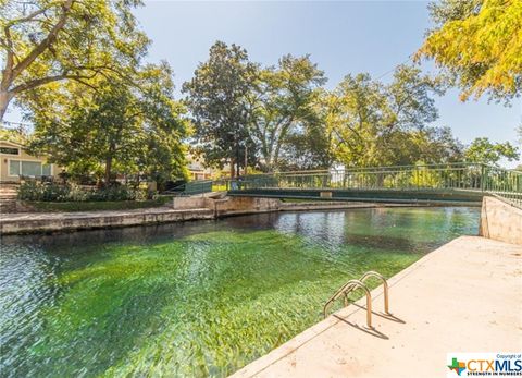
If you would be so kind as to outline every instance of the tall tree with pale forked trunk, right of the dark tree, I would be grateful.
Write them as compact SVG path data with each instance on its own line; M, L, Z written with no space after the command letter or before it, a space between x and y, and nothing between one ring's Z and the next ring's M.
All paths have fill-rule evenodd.
M304 142L302 136L313 132L309 126L316 122L315 89L325 82L324 73L308 56L284 56L276 68L261 71L253 96L252 135L259 141L264 169L272 171L278 166L290 134L298 147Z

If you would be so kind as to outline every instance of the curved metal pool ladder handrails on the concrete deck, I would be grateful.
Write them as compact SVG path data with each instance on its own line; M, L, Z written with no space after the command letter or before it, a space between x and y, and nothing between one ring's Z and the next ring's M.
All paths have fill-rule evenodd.
M335 301L337 301L339 297L344 297L344 304L345 307L348 306L348 294L351 293L352 291L357 289L361 289L364 291L364 294L366 295L366 325L369 328L372 328L372 294L370 293L370 289L364 284L364 281L366 281L369 278L375 277L378 278L381 281L383 281L383 288L384 288L384 312L386 314L389 314L389 305L388 305L388 282L386 279L383 277L383 275L377 273L376 271L366 271L364 275L361 276L360 279L358 280L349 280L346 282L343 286L340 286L339 290L335 292L334 295L325 303L323 307L323 315L326 318L328 315L328 309L330 307L334 304Z

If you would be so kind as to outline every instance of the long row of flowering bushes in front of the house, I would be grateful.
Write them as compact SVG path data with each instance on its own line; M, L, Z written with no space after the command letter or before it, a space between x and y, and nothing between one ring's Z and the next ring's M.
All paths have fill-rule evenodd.
M109 187L84 188L78 185L58 185L28 181L18 188L18 198L32 202L107 202L107 200L145 200L149 197L147 191L129 188L125 185Z

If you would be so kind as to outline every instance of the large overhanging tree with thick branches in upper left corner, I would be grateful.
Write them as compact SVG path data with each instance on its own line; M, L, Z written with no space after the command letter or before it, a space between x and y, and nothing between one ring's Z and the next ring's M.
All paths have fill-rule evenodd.
M74 81L124 76L139 65L148 38L130 12L139 0L0 1L0 121L13 98L36 101ZM53 84L53 85L52 85Z

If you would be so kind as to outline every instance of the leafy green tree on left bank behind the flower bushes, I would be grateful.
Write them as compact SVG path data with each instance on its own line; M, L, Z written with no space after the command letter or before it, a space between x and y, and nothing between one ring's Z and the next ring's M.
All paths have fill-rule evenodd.
M114 168L156 180L183 175L187 125L183 107L173 100L169 66L149 65L133 84L103 81L96 92L34 109L30 149L73 170L102 169L105 184Z

